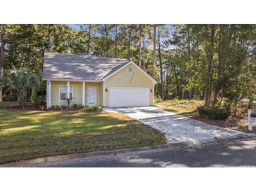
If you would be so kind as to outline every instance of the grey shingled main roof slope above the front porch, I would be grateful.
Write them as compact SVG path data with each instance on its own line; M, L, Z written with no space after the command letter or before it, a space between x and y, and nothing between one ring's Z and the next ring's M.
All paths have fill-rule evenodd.
M44 53L43 78L100 80L129 62L126 59Z

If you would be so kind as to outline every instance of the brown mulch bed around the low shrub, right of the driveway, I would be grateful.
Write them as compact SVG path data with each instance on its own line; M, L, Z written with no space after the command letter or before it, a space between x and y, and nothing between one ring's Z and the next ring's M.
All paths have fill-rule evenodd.
M189 118L194 118L198 121L203 121L205 123L210 123L212 125L217 125L224 128L229 128L232 130L239 130L243 132L248 132L248 120L247 116L239 114L238 116L231 116L226 120L212 120L208 118L201 118L198 114L191 115ZM256 127L254 127L256 128Z

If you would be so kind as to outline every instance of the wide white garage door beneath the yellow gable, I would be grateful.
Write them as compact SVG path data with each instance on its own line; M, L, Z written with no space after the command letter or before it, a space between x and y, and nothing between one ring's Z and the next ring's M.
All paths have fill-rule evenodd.
M109 107L149 106L149 88L109 88Z

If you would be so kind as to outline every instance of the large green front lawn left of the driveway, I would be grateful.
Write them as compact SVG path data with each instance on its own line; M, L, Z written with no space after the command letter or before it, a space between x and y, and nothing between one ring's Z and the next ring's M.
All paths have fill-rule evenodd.
M161 133L123 114L0 110L0 163L158 144Z

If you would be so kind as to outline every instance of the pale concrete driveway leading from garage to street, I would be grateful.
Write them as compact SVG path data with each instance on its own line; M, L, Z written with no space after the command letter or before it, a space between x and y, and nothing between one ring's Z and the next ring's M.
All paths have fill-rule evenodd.
M180 116L157 107L105 108L105 111L120 112L137 121L151 125L166 135L168 144L180 142L196 143L211 139L253 135L203 123L202 121Z

